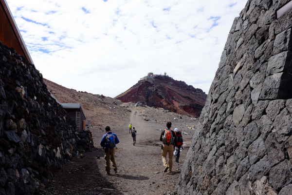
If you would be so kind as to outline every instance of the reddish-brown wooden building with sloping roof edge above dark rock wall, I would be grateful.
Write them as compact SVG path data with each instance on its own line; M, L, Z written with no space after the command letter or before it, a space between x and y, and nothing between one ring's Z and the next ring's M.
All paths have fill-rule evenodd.
M0 0L0 41L34 64L6 0Z

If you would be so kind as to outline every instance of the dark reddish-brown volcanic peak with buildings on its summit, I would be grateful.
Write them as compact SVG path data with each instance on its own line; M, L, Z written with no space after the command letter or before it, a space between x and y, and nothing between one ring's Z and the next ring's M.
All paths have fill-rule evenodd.
M115 97L122 102L141 102L178 114L200 116L207 95L192 85L168 76L156 76L139 81L126 92Z

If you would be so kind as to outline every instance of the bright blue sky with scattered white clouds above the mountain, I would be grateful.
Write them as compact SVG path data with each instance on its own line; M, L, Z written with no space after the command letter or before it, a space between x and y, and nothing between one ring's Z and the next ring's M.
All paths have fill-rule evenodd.
M6 0L36 68L114 98L147 73L208 94L246 0Z

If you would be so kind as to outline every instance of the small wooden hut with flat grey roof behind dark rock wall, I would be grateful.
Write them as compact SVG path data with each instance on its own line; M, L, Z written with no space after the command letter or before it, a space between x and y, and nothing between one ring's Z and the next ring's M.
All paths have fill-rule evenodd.
M80 103L60 103L68 113L71 120L75 121L77 132L86 129L86 117L82 111Z

